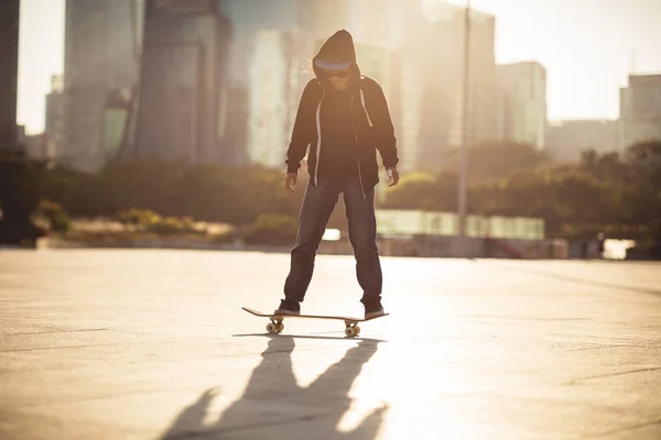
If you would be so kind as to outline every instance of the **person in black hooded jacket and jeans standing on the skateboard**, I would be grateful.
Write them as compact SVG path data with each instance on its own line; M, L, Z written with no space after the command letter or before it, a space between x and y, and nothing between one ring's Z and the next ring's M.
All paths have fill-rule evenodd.
M310 146L310 183L284 283L284 299L275 314L300 315L316 251L342 193L356 275L364 292L360 301L365 317L381 316L382 275L375 217L377 150L390 186L399 183L397 141L388 103L379 84L360 74L354 40L345 30L324 43L313 58L313 69L315 78L303 90L285 161L285 187L293 193L301 160Z

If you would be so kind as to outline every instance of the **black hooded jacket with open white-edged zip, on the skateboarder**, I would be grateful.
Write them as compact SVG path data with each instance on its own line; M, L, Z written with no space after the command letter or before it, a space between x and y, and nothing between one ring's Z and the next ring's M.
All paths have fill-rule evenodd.
M303 90L285 163L288 173L296 173L310 146L307 170L311 184L316 186L318 157L321 148L324 147L319 111L326 90L332 87L318 64L336 65L340 68L346 63L350 63L351 77L357 78L350 88L351 120L356 136L358 174L365 195L365 188L379 183L377 150L386 168L394 168L399 158L394 128L383 90L376 80L360 74L354 40L347 31L342 30L332 35L313 58L315 78L311 79Z

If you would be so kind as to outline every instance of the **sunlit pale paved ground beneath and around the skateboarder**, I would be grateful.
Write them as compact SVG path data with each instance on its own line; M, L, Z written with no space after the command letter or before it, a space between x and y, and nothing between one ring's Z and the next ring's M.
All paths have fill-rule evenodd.
M279 337L282 254L0 251L0 439L660 439L661 265L384 258ZM359 314L318 258L305 311Z

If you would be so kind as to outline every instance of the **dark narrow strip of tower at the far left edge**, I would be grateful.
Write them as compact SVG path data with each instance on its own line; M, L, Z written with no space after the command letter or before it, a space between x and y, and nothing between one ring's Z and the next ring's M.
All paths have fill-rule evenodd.
M20 3L0 2L0 151L17 145Z

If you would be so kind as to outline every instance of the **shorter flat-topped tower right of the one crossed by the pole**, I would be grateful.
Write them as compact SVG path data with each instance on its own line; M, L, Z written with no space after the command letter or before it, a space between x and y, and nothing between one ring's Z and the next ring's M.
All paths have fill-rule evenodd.
M497 67L499 139L543 150L546 130L546 70L535 62Z

